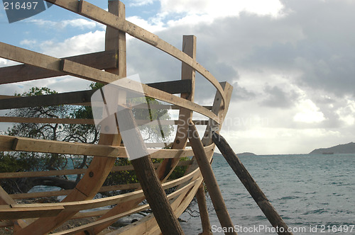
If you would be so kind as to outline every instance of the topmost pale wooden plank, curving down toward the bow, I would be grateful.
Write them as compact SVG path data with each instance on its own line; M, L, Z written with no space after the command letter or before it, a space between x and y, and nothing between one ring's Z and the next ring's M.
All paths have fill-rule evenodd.
M104 11L102 8L89 4L86 1L77 0L46 0L57 6L61 6L62 8L66 8L69 11L73 11L75 13L79 13L82 16L86 16L94 21L99 23L103 23L104 25L108 25L112 28L116 28L118 30L124 31L125 33L129 33L129 35L142 40L163 52L168 53L169 55L179 59L185 64L190 65L190 67L196 69L204 78L206 78L211 84L217 88L217 91L221 94L223 102L225 102L225 95L222 89L222 86L218 83L217 79L209 73L207 69L202 67L201 64L194 61L190 56L186 55L184 52L178 50L178 48L173 47L173 45L168 44L164 40L158 38L157 35L144 30L143 28L135 25L129 21L126 21L124 17L115 16L107 11Z

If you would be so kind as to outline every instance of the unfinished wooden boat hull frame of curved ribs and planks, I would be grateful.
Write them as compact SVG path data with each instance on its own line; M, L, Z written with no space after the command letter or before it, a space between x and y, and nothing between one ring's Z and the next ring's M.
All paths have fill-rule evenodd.
M214 152L212 130L218 132L221 128L228 110L232 86L227 82L219 83L207 69L197 63L195 36L184 36L182 50L178 50L158 38L157 35L126 21L125 7L120 1L109 1L109 11L104 11L86 1L46 1L107 25L105 51L75 57L55 58L0 42L0 57L22 63L0 68L0 84L13 84L62 75L72 75L104 84L124 78L126 77L126 33L182 62L182 79L180 81L140 84L143 86L146 96L170 103L170 108L179 110L179 120L166 121L177 125L178 128L173 145L170 149L161 149L151 156L156 159L164 159L162 163L154 165L163 188L178 186L174 193L168 195L168 200L175 215L179 217L195 197L203 180L195 158L190 161L179 161L182 157L194 156L192 149L188 148L190 146L190 143L187 142L188 120L192 118L193 112L207 117L208 120L194 120L193 123L206 126L201 142L210 162ZM195 71L204 76L217 90L212 106L198 105L194 102ZM134 89L134 86L126 84L126 88ZM93 91L75 91L36 97L0 96L0 109L62 104L89 105L92 93ZM175 96L176 93L179 93L180 97ZM0 117L0 122L94 124L93 120L37 117ZM3 220L0 221L0 227L13 227L14 234L48 234L69 219L84 217L98 217L98 219L95 222L55 234L99 234L117 219L149 208L149 205L140 205L144 200L144 195L139 183L102 186L109 172L133 170L133 166L114 166L114 161L118 156L126 157L125 147L121 146L119 134L101 134L98 144L58 142L3 135L0 136L0 151L34 151L94 156L87 169L0 173L0 179L84 174L72 190L9 195L0 187L0 219ZM167 181L168 176L179 165L188 166L185 176ZM124 189L134 189L135 191L93 199L100 192ZM18 204L15 201L58 195L66 195L66 197L58 203ZM115 206L109 210L82 212L108 205ZM138 222L107 234L132 233L160 234L160 228L151 214Z

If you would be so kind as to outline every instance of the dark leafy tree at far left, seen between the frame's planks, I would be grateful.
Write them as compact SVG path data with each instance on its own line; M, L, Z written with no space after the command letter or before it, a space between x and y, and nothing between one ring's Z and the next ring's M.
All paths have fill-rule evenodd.
M16 96L41 96L55 94L49 88L33 87L30 91ZM47 107L18 108L8 113L15 117L50 117L50 118L82 118L89 115L87 108L75 105L53 105ZM95 143L99 138L99 132L94 125L63 125L51 123L17 123L6 132L8 135L31 137L35 139L50 139L58 141ZM81 161L77 161L80 159ZM9 171L44 171L60 170L72 165L74 168L84 168L87 164L87 156L69 156L65 154L43 154L34 152L9 152L0 155L1 172ZM70 164L69 164L69 161ZM10 164L11 162L11 164ZM61 177L34 177L21 179L1 180L1 186L8 193L27 193L35 185L58 186L64 189L74 188L77 180L68 180Z

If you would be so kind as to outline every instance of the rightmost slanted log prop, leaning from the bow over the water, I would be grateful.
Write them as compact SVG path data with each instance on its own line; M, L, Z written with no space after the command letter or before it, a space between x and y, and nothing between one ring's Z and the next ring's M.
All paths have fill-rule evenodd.
M246 190L250 193L253 199L256 201L256 204L260 207L260 209L265 214L268 221L273 225L273 227L278 228L278 234L283 235L292 235L291 232L288 231L288 226L283 219L280 217L280 214L276 212L275 208L269 202L266 195L263 193L261 188L259 188L258 184L253 180L249 172L246 170L244 165L239 160L238 156L234 153L233 149L226 142L226 139L222 137L217 132L214 132L212 135L212 140L214 144L217 145L219 151L221 151L224 159L228 162L229 166L233 169L236 176L241 180L241 183L244 184Z

